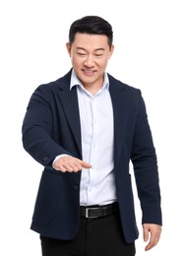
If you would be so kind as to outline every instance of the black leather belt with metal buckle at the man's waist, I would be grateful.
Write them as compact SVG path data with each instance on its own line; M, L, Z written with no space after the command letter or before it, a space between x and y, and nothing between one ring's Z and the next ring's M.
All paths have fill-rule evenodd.
M100 218L113 215L118 212L118 204L113 203L104 206L81 206L80 215L85 218Z

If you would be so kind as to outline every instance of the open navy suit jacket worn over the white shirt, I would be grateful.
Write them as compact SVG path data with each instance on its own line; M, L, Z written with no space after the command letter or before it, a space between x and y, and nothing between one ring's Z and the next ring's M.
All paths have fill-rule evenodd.
M31 229L42 235L72 239L80 222L80 180L77 173L60 172L52 161L61 154L82 159L80 114L76 87L70 91L71 71L32 94L23 122L25 150L44 169ZM133 162L142 223L161 224L160 191L151 128L141 91L108 74L114 115L114 173L123 234L138 238L129 162Z

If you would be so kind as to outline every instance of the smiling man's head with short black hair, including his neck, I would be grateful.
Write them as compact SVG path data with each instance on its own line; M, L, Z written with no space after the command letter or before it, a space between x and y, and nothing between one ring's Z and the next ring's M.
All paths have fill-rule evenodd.
M112 34L111 26L97 16L86 16L71 25L67 50L77 77L92 93L102 86L114 49Z

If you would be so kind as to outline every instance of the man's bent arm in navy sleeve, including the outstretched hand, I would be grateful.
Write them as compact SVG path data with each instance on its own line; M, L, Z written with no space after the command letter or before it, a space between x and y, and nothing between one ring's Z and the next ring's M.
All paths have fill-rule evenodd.
M56 107L53 95L54 92L47 86L38 87L32 94L22 129L25 150L42 165L63 172L90 168L91 164L73 158L72 154L61 146L62 142L59 144L57 138L60 137L59 131L62 131L63 127L59 126L60 116L57 113L62 109ZM67 123L66 120L63 120L63 124L64 122Z

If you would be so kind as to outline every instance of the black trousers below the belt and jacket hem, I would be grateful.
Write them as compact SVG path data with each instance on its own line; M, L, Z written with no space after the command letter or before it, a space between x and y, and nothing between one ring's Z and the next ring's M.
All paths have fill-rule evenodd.
M126 243L119 214L86 219L73 240L57 240L40 235L42 256L134 256L135 243Z

